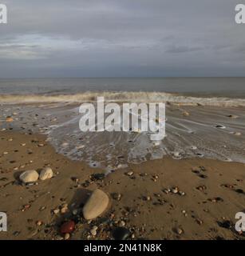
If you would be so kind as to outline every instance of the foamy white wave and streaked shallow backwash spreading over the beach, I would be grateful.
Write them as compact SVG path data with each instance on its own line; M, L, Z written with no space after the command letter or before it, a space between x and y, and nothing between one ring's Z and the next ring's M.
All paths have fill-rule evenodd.
M97 163L98 166L100 163L103 167L111 166L110 169L113 170L116 170L117 166L163 158L164 155L176 159L204 157L245 162L245 108L230 107L244 106L244 100L193 98L177 94L141 92L99 95L105 94L109 96L105 97L108 101L142 102L144 100L181 103L180 106L167 106L167 137L159 142L152 142L149 139L150 134L144 132L81 132L79 130L81 115L78 106L81 102L89 101L94 101L96 104L98 94L95 93L56 96L58 101L54 104L48 102L36 104L40 102L40 98L36 95L35 104L2 106L0 108L4 117L2 121L13 113L16 113L14 115L16 119L11 123L2 122L0 128L12 126L19 130L19 127L24 126L26 131L45 133L57 152L92 165ZM76 102L74 98L79 104L64 107L64 102ZM28 97L25 99L30 100ZM197 103L206 106L196 106ZM220 127L225 129L219 129Z

